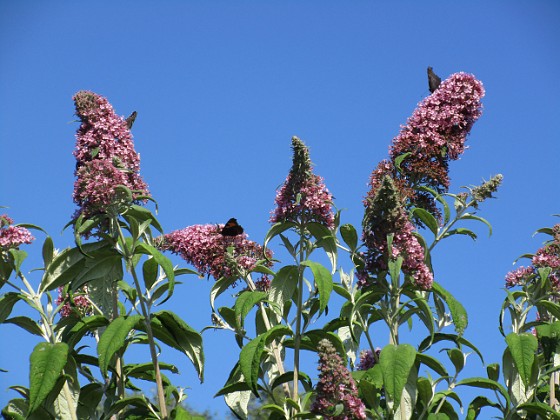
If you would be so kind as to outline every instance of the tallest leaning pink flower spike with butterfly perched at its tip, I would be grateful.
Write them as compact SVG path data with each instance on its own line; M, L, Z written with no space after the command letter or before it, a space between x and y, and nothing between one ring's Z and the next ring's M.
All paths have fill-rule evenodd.
M448 190L449 161L459 159L464 152L466 137L482 115L483 97L482 83L471 74L455 73L444 80L401 127L389 148L389 159L381 161L371 174L370 191L375 193L383 177L391 175L409 200L407 205L439 215L434 199L415 188L425 186L439 193Z

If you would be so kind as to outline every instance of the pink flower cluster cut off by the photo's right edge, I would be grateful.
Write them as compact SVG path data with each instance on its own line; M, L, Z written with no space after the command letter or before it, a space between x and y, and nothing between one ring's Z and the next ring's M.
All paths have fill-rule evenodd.
M523 286L535 278L539 268L550 268L550 284L560 291L560 223L552 228L552 234L552 241L533 255L531 266L518 267L506 274L506 287Z

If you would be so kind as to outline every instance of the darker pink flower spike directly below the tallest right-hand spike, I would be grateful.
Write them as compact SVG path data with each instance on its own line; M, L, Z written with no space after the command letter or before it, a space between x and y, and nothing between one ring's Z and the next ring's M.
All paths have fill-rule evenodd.
M385 176L377 191L366 200L362 240L366 244L365 267L358 273L359 285L367 286L381 271L387 270L386 261L402 256L402 271L412 277L414 285L428 290L433 274L424 262L424 248L413 235L414 225L409 220L395 182ZM387 236L393 235L391 250Z

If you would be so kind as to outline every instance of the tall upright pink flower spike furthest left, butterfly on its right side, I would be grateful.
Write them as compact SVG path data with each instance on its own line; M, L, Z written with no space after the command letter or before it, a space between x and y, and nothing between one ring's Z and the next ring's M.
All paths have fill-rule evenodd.
M132 190L132 199L149 194L140 177L140 156L134 150L126 120L115 114L106 98L89 91L74 96L81 120L76 133L75 216L105 212L118 196L116 187Z

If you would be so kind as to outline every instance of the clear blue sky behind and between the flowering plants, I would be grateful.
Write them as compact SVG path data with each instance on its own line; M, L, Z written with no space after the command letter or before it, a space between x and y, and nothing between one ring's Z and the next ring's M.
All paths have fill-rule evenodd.
M429 93L426 67L442 78L473 73L486 89L485 110L470 149L451 164L451 190L504 175L498 199L479 212L494 234L474 226L477 242L444 241L433 258L436 280L469 311L467 338L498 362L504 276L544 240L533 232L560 213L559 18L553 0L2 0L0 205L17 222L45 228L58 248L71 245L60 235L74 211L71 98L88 89L121 115L138 111L141 171L166 230L236 217L262 241L292 135L310 147L315 172L345 209L343 223L359 227L371 170ZM39 246L26 249L38 256ZM39 264L34 257L27 268ZM170 309L201 329L211 283L183 280ZM28 383L35 342L8 325L0 339L0 367L10 370L0 374L4 406L15 396L9 385ZM203 385L186 358L166 350L163 359L180 367L173 380L191 387L192 406L223 412L212 395L235 363L235 344L222 332L204 339ZM469 374L483 376L470 360Z

